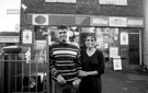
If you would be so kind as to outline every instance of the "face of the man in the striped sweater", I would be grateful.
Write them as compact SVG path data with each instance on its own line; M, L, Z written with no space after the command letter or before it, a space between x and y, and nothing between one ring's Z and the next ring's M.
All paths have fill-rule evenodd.
M62 43L66 43L67 42L67 37L68 37L68 30L59 30L58 31L59 33L59 40L62 42Z

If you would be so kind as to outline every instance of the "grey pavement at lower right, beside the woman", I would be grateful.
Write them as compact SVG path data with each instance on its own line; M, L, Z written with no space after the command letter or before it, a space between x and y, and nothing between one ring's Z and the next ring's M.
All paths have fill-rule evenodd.
M102 93L148 93L148 72L106 69L102 75Z

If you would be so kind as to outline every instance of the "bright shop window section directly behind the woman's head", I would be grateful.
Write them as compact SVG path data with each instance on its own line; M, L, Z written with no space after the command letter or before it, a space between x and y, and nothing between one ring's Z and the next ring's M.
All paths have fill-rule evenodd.
M118 47L118 28L112 27L82 27L80 32L80 46L84 49L84 40L88 34L94 34L96 37L95 47L104 53L109 60L110 47Z

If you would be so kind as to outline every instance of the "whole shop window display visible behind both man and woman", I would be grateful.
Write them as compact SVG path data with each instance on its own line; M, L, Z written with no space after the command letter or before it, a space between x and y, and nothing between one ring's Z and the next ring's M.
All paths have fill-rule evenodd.
M57 26L48 26L49 44L58 42ZM104 53L105 58L110 58L110 47L118 47L118 28L115 27L77 27L70 26L68 40L80 49L86 48L86 37L88 34L94 34L96 37L95 47Z

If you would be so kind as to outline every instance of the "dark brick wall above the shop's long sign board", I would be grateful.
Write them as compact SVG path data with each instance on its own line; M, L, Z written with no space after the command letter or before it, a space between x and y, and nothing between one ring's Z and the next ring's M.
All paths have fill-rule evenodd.
M77 3L46 3L45 0L22 0L29 13L89 14L110 16L144 16L143 0L128 0L128 5L101 5L98 0L77 0Z

